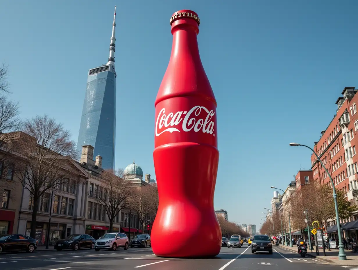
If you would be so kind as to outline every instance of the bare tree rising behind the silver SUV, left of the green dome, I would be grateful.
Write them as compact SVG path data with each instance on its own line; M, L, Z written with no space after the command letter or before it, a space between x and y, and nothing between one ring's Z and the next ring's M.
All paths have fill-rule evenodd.
M134 189L130 181L123 180L123 169L105 170L101 174L102 188L96 194L96 200L105 208L110 220L110 232L113 231L113 221L116 215L128 207Z

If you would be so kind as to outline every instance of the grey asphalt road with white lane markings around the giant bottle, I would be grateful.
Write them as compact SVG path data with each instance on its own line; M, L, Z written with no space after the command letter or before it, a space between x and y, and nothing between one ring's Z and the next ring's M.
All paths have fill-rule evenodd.
M200 248L198 246L198 248ZM99 251L35 251L32 254L1 254L1 270L358 270L358 267L330 265L318 259L302 258L282 247L275 247L274 254L251 254L251 248L222 247L213 259L168 259L156 257L151 248L129 248L129 250Z

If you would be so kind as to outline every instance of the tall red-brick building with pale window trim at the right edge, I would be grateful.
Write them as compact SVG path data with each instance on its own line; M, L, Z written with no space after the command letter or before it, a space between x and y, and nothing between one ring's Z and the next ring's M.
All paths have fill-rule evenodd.
M336 190L343 190L347 193L347 199L351 204L358 205L358 90L355 87L345 87L341 97L336 101L337 110L328 127L321 132L321 138L315 142L314 150L323 161L323 164L332 176ZM321 184L332 187L330 179L325 170L319 164L316 156L311 155L311 169L313 170L313 179ZM301 180L302 181L302 180ZM352 219L341 220L341 223L347 223L344 230L345 234L357 236L355 230L349 229L348 222L358 219L358 213L355 213ZM334 233L335 221L330 222ZM330 232L328 230L328 232ZM335 226L337 231L337 226Z

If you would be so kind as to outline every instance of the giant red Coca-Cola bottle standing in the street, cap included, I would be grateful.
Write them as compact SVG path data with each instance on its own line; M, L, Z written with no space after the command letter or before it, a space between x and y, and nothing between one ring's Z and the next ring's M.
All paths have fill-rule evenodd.
M159 208L151 245L161 257L216 256L222 238L214 212L216 100L199 56L200 19L179 10L170 24L173 47L155 100Z

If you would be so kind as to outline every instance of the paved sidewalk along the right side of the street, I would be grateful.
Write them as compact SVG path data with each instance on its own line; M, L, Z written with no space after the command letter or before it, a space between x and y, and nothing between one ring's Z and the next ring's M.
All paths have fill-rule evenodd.
M289 247L289 246L282 246L287 250L290 250L292 252L297 253L297 246ZM326 256L323 256L323 249L319 249L319 256L316 256L316 247L313 247L314 250L311 252L311 250L308 250L306 256L313 257L322 261L330 262L332 264L338 264L338 265L358 265L358 253L353 253L351 250L345 250L345 255L347 255L347 260L340 261L338 259L338 253L339 250L332 249L331 251L326 250Z

